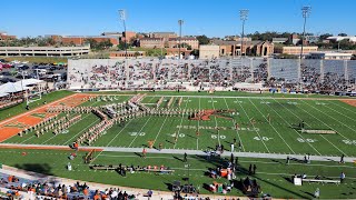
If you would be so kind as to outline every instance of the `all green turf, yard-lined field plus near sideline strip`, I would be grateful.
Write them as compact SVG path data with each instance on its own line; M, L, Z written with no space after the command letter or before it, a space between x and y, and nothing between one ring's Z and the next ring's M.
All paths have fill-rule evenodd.
M235 151L241 152L356 157L354 150L356 147L355 107L335 98L319 98L320 96L309 96L309 98L318 97L319 99L307 99L307 96L295 94L283 97L283 94L243 93L240 96L240 93L243 92L226 92L219 96L217 92L209 96L205 92L149 92L141 103L151 108L156 108L159 99L164 97L159 108L167 108L169 100L174 98L171 109L217 109L230 110L230 112L210 116L207 121L189 120L188 116L136 118L125 124L115 124L105 131L92 146L144 148L148 147L148 141L154 141L155 148L161 143L164 149L201 151L222 144L229 151L230 143L237 139L241 143L241 149L235 147ZM96 94L100 93L96 92ZM109 92L101 94L109 96ZM87 101L82 106L99 107L123 102L134 94L135 92L110 92L112 101ZM49 94L48 98L56 99L58 97ZM182 101L179 106L180 98ZM76 116L76 113L72 114ZM301 121L305 122L306 130L335 131L336 133L301 132L298 128ZM79 122L60 134L55 136L49 131L37 138L33 132L29 132L22 138L14 136L3 143L68 146L99 122L100 119L97 116L87 113L82 114ZM236 123L238 123L237 130ZM199 136L196 134L197 129L199 129ZM175 142L176 136L178 136L177 142ZM97 164L165 164L176 170L174 174L135 173L122 178L117 172L90 170L81 159L85 152L79 152L79 157L72 162L73 171L67 171L69 151L24 150L27 156L21 156L22 151L0 149L0 162L71 179L156 190L168 190L169 183L174 180L182 180L188 176L185 163L180 160L181 154L149 153L147 159L141 159L139 153L131 152L103 151L96 154L93 163ZM226 163L226 160L207 161L201 156L188 156L188 161L191 166L190 181L195 186L199 186L202 193L209 193L204 189L204 186L214 180L205 173L208 168ZM253 177L261 184L263 191L273 197L310 199L316 188L320 188L322 198L356 198L356 179L353 178L356 172L355 163L339 164L334 161L313 161L312 164L291 162L286 166L285 160L240 158L238 179L247 176L246 170L250 163L257 164L258 168L257 174ZM342 171L346 173L347 180L345 184L340 186L307 183L303 187L295 187L290 182L290 176L295 173L306 173L310 178L325 176L338 179ZM217 181L227 182L226 179ZM234 190L231 194L243 196L239 189Z

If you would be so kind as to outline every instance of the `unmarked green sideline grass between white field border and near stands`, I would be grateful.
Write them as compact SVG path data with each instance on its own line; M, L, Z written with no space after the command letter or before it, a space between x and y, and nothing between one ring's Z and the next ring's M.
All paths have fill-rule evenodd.
M0 161L3 164L17 167L20 169L36 171L46 174L53 174L63 178L70 178L82 181L93 181L115 186L138 187L144 189L168 191L169 183L179 180L182 183L182 178L188 177L188 169L185 168L185 162L181 161L182 156L178 154L148 154L146 159L141 159L137 153L120 153L120 152L102 152L97 157L93 163L97 164L119 164L125 166L166 166L175 170L174 174L157 174L157 173L127 173L123 178L116 171L90 170L83 163L81 157L85 152L79 152L78 157L70 161L68 156L70 151L55 150L13 150L0 149ZM26 152L23 156L22 152ZM11 159L10 159L11 158ZM246 178L249 164L256 164L256 174L249 176L256 179L261 186L264 193L269 193L274 198L297 198L312 199L316 188L320 189L320 198L328 199L352 199L356 198L356 179L352 178L355 174L356 167L352 163L339 164L337 162L312 162L310 164L290 162L285 164L285 160L271 159L250 159L239 158L239 167L237 180ZM66 169L67 163L71 162L73 170ZM190 164L189 178L190 182L200 187L201 193L210 193L205 189L205 184L210 184L212 181L220 183L228 182L227 179L211 179L206 172L209 168L225 166L228 159L215 158L206 160L202 156L188 156ZM318 169L318 170L315 170ZM294 186L290 182L290 177L295 173L306 173L307 177L325 176L330 179L338 180L339 173L346 173L345 183L335 186L332 183L305 183L301 187ZM238 184L235 184L238 186ZM243 196L239 187L234 188L230 194Z

